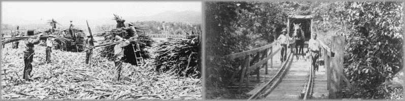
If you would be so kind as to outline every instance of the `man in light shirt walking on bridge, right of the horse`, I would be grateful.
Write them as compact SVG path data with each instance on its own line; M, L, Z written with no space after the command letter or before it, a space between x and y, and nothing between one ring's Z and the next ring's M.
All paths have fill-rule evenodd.
M317 59L320 56L321 46L319 40L317 40L317 33L313 33L312 38L308 42L308 51L310 57L312 58L312 66L314 66L314 71L318 71Z

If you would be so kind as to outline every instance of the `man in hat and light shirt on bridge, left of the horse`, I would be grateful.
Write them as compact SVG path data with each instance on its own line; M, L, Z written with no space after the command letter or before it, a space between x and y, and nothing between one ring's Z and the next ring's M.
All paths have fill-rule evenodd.
M289 36L287 36L286 29L283 29L281 32L283 34L278 36L277 41L280 43L280 46L282 46L280 61L283 62L287 60L287 43L289 41Z

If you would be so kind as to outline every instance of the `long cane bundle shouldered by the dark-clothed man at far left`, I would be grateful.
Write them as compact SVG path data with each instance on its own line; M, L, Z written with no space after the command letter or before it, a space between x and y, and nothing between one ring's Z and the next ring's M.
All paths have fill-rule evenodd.
M30 38L38 38L38 36L24 36L24 37L4 37L4 38L10 38L10 39L6 39L6 40L2 40L3 44L7 44L7 43L12 43L12 42L17 42L20 40L25 40L25 39L30 39ZM60 38L57 36L52 36L52 35L43 35L40 37L41 39L46 39L46 38L55 38L56 41L73 41L70 39L66 39L66 38Z

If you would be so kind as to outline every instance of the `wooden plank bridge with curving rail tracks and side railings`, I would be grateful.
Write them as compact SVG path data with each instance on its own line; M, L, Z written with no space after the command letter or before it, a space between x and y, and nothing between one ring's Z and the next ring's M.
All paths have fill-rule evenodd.
M253 50L226 55L243 59L227 85L231 91L246 91L253 99L341 98L344 40L332 37L330 47L321 43L319 71L314 72L310 58L294 54L289 46L287 61L280 60L281 46L272 43ZM304 46L304 52L307 45ZM293 48L295 49L295 48ZM296 58L299 55L299 59ZM305 54L304 54L305 55Z

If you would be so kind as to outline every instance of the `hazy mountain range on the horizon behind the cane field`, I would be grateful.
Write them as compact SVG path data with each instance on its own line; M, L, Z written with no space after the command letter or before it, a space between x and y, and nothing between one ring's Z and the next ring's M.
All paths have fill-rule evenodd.
M111 24L116 24L116 22L113 19L113 14L111 16L105 16L105 17L100 17L100 18L94 18L94 19L82 19L78 18L77 16L80 15L72 15L72 16L65 16L65 17L60 17L60 18L55 18L56 21L58 21L62 27L68 27L69 26L69 20L73 20L75 25L77 27L87 27L86 25L86 20L88 20L88 24L90 27L92 26L99 26L99 25L111 25ZM118 15L119 16L119 15ZM201 24L201 19L202 15L200 12L197 11L182 11L182 12L177 12L177 11L166 11L163 13L159 13L156 15L152 16L122 16L123 19L126 20L126 22L136 22L136 21L165 21L165 22L182 22L182 23L199 23ZM19 21L18 23L3 23L3 24L9 24L11 26L25 26L27 28L38 28L38 27L50 27L49 25L46 24L46 20L48 19L43 19L43 20L24 20L24 19L18 19L14 18L12 19L14 21ZM60 27L59 25L57 25Z

